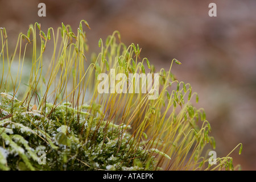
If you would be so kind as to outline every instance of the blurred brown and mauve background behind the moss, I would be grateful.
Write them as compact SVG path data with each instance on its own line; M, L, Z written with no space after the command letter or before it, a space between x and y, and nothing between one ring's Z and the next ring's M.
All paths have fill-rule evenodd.
M46 3L46 17L38 3ZM210 2L217 17L208 16ZM255 0L0 0L0 27L9 42L39 22L43 30L61 22L75 29L88 21L90 52L99 52L98 40L118 30L122 42L142 47L159 71L170 67L177 80L189 82L199 94L216 139L217 156L231 155L243 170L256 169L256 1ZM1 71L1 68L0 68Z

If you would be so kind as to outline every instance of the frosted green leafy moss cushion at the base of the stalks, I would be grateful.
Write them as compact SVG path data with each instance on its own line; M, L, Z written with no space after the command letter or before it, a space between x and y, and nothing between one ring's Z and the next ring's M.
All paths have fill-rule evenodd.
M152 156L124 127L99 121L95 115L92 120L84 110L46 104L42 113L28 112L27 105L8 97L2 97L0 107L5 110L1 118L13 113L0 121L0 169L153 169ZM39 151L46 152L46 164L38 163Z

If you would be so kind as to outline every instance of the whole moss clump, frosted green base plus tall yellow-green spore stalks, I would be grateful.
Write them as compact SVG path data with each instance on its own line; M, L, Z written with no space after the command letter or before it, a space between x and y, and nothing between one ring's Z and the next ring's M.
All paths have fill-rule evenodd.
M173 63L180 61L173 59L168 71L156 72L146 57L141 59L139 45L127 47L118 31L105 42L100 39L100 52L89 59L82 24L89 27L81 20L77 33L64 24L47 33L39 23L31 24L26 35L19 34L12 55L6 30L0 28L1 169L236 169L229 155L238 146L241 153L241 144L210 163L215 141L204 109L192 105L199 97L171 73ZM140 74L141 81L133 82L130 73ZM151 81L143 81L146 73ZM104 78L104 92L98 90L101 74L110 78ZM123 92L111 91L120 84ZM135 92L135 84L141 92ZM142 92L142 85L148 92Z

